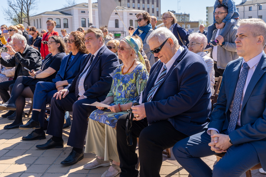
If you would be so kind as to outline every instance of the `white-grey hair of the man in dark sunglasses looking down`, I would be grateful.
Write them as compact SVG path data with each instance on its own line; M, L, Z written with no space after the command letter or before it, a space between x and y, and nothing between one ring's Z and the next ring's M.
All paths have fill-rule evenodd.
M167 39L171 38L176 46L178 46L178 40L176 39L175 35L166 27L160 27L156 30L152 31L147 39L147 44L149 44L149 40L155 38L160 45Z

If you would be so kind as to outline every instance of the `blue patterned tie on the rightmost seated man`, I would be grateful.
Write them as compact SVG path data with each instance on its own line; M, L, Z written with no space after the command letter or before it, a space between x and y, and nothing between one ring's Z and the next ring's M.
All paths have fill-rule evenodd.
M248 66L247 63L243 63L243 69L240 73L238 83L237 83L235 98L233 102L233 108L232 108L232 112L230 115L230 122L227 128L228 134L230 134L236 129L236 124L237 124L237 119L238 119L239 109L240 109L240 102L241 102L243 88L244 88L244 85L247 79L249 68L250 67Z

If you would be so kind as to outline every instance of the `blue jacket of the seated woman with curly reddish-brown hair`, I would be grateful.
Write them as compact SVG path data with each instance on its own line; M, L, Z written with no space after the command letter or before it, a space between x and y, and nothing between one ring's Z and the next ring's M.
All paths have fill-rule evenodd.
M77 76L82 66L82 62L87 57L86 53L77 52L77 55L71 61L68 66L68 61L70 59L71 54L63 57L60 69L57 72L53 82L68 80L68 84L72 83L73 79Z

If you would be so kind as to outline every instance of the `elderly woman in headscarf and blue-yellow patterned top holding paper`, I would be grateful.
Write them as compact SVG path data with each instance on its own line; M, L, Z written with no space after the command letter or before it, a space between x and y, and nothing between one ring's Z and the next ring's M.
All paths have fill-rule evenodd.
M145 61L139 52L141 41L130 36L122 39L118 46L118 57L123 61L114 71L111 90L101 102L110 105L107 108L97 107L90 115L85 152L97 155L95 161L87 163L84 169L109 166L103 177L116 176L121 172L116 148L116 122L127 114L137 96L145 88L148 72Z

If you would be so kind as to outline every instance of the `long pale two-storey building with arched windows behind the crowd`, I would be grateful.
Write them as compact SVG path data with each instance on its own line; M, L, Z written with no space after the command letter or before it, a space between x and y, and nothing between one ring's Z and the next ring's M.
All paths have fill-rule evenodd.
M127 7L116 7L117 12L124 21L123 25L117 12L114 10L110 16L108 23L108 31L114 34L114 38L122 38L128 34L127 29L129 26L137 27L136 14L143 10L132 9ZM98 19L98 4L92 3L92 18L93 25L99 28ZM89 15L88 15L88 3L80 3L75 6L65 7L55 11L46 11L34 16L30 16L30 23L37 28L38 31L42 29L46 30L46 21L56 21L55 31L61 35L61 29L66 29L67 33L77 30L78 27L82 26L85 30L89 27ZM24 26L28 26L24 23Z

